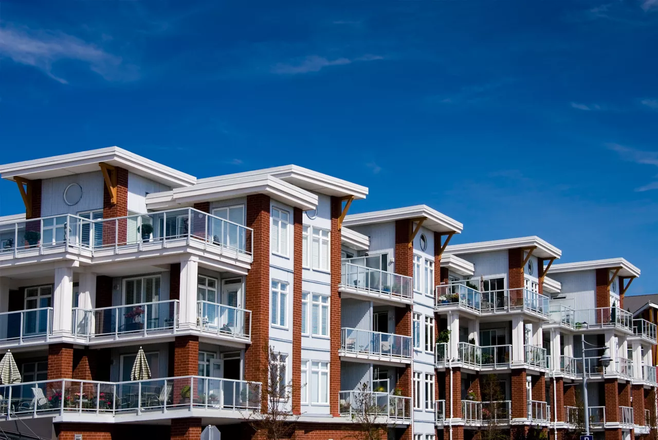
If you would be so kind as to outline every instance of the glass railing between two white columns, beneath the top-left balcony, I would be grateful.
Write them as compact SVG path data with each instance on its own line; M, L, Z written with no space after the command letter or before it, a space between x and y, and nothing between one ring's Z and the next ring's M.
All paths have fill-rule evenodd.
M93 337L171 331L178 327L178 300L143 302L85 310L74 308L72 334L76 337Z

